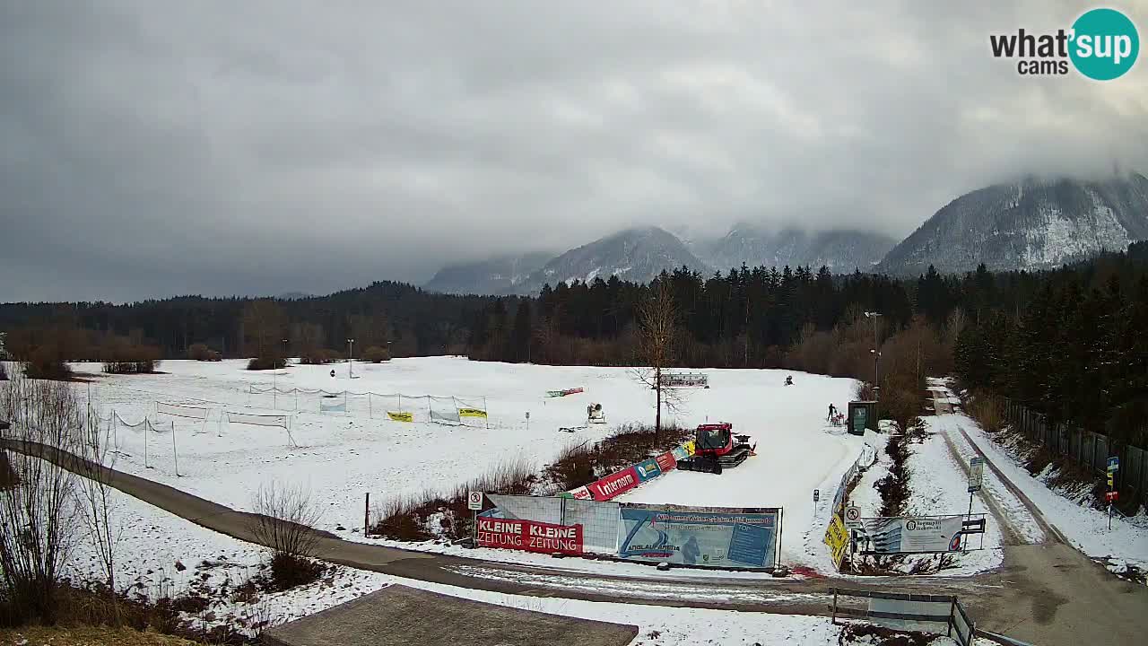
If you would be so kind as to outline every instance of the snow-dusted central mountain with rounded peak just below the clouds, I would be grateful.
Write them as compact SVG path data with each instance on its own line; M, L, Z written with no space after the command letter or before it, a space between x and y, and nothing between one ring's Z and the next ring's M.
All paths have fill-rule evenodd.
M649 283L661 270L682 266L703 274L711 271L673 233L657 226L628 229L559 255L530 274L515 292L536 293L544 284L605 280L611 276Z

